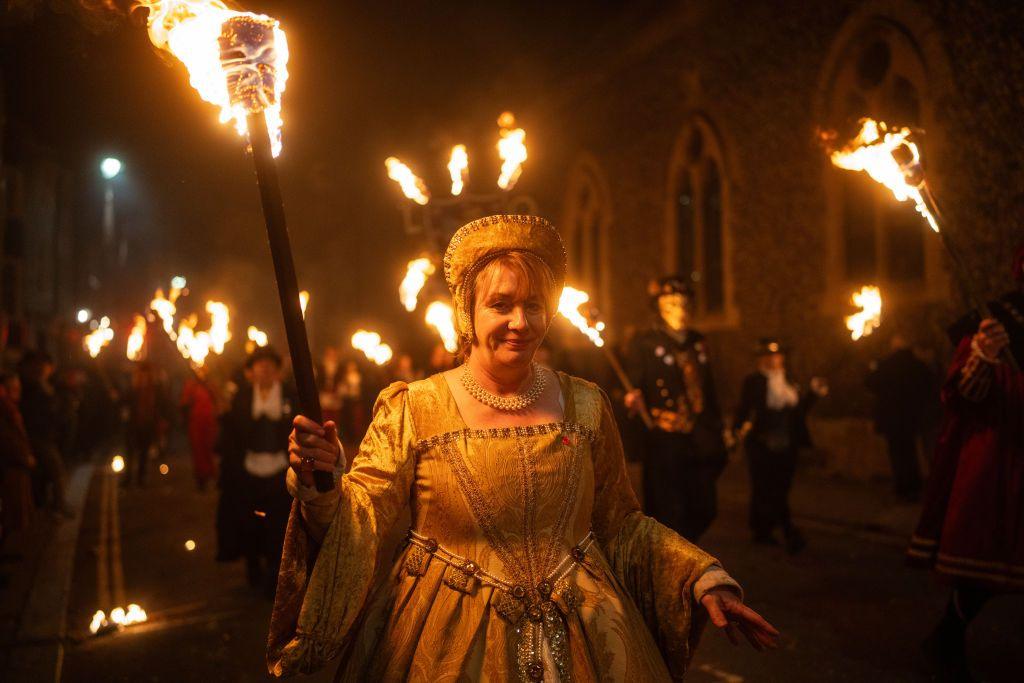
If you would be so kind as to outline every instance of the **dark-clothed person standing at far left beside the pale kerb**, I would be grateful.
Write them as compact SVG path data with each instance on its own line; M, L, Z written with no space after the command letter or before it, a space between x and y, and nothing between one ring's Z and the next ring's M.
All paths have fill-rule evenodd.
M56 394L50 384L53 360L45 351L29 351L18 366L22 376L22 418L32 444L37 468L34 481L36 504L49 506L66 517L73 516L65 499L68 475L58 449L59 417Z

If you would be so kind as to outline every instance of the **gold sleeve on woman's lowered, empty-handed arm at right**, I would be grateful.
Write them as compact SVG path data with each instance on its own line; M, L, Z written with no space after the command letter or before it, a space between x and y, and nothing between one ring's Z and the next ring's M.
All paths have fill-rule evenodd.
M629 592L676 680L682 680L707 614L693 588L715 558L640 511L626 472L622 439L608 398L601 394L594 444L594 533Z

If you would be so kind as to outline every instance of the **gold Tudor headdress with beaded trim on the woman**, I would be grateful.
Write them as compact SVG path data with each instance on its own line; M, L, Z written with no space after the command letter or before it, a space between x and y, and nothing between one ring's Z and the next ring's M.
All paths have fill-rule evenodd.
M495 258L513 251L529 252L544 261L555 281L557 297L565 284L565 245L555 226L540 216L487 216L460 227L444 251L444 280L455 302L456 327L472 336L471 302L466 295L476 273ZM555 301L557 306L558 302Z

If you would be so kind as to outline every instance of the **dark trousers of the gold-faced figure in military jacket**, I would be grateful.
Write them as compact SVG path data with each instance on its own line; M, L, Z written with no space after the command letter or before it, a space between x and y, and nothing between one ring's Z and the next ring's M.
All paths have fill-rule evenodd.
M696 542L718 513L722 462L696 452L687 434L651 432L644 453L644 511Z

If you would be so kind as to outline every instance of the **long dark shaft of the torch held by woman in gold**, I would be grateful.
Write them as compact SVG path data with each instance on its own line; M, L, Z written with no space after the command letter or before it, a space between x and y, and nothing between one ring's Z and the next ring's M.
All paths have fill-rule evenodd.
M253 163L256 165L260 202L263 206L263 219L266 222L266 234L270 242L273 272L278 280L281 312L285 318L288 350L292 357L292 372L295 374L295 384L299 391L299 408L302 415L321 423L324 421L324 415L321 411L319 392L316 389L316 380L313 376L313 359L309 353L306 325L302 319L302 307L299 303L299 281L295 274L295 260L292 258L292 245L288 239L285 205L281 199L278 166L270 150L270 135L262 112L250 114L247 118L247 124L249 142L253 151ZM330 472L314 470L313 479L316 483L316 489L321 492L330 490L334 485Z

